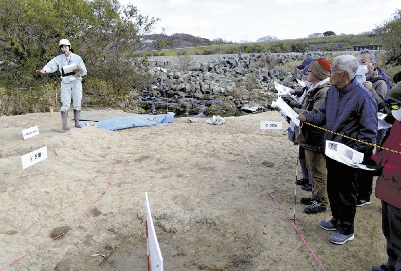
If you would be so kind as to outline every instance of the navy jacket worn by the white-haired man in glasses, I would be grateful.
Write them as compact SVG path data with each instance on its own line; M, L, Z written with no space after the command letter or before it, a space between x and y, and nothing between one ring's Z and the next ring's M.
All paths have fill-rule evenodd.
M343 89L331 86L320 112L305 114L306 122L316 126L326 124L326 129L339 134L375 143L377 134L377 103L373 95L353 79ZM324 132L324 141L336 141L361 153L371 147L367 144ZM326 145L326 144L325 144Z

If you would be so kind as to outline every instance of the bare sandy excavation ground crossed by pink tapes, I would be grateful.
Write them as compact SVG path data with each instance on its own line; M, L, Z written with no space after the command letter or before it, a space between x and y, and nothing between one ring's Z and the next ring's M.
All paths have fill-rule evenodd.
M108 112L113 112L109 110ZM115 111L117 112L117 111ZM185 122L103 131L61 130L60 113L0 117L0 269L67 230L111 185L72 230L5 270L146 270L144 194L150 207L164 270L323 270L285 212L294 214L297 148L282 130L260 121L282 121L277 112L226 118L227 124ZM40 134L23 140L21 130ZM49 158L22 170L20 155L47 146ZM308 192L298 187L298 197ZM328 271L371 270L383 264L381 204L358 208L355 239L329 243L318 226L328 212L307 215L296 204L296 226ZM103 253L103 257L91 257Z

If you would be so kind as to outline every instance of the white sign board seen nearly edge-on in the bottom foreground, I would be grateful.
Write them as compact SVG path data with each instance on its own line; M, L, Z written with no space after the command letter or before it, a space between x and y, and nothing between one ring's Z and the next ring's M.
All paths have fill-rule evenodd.
M150 214L150 206L148 193L145 192L145 212L146 220L148 220L148 235L149 235L149 258L152 271L163 271L163 257L160 252L159 243L157 241L156 232L154 230L152 214Z

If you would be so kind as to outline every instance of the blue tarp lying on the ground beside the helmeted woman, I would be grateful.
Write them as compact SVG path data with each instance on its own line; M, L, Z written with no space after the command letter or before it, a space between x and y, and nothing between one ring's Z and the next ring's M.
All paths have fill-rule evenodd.
M134 128L140 126L162 126L173 122L175 113L169 112L160 115L138 115L119 118L110 118L96 122L102 130L122 130L126 128ZM148 120L148 118L156 118L156 120Z

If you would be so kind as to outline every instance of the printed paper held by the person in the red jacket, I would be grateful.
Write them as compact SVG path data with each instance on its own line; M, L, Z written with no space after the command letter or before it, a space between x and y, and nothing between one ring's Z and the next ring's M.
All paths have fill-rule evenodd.
M360 165L360 163L363 161L363 153L355 151L354 149L335 141L326 140L326 150L324 154L327 157L330 157L331 159L334 159L350 167L375 170L366 167L366 165Z

